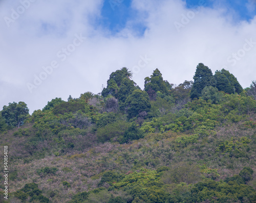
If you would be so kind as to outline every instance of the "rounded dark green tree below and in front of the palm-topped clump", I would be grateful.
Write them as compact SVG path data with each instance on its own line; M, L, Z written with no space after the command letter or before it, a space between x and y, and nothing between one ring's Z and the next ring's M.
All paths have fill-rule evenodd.
M128 119L136 117L140 112L148 112L151 108L150 98L145 91L136 89L125 101Z

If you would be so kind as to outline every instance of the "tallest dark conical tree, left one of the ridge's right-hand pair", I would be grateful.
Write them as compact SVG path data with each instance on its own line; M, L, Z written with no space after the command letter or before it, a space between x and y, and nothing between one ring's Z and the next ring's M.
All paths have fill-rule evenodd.
M205 86L216 86L216 80L211 70L203 63L199 63L194 76L194 84L191 88L191 99L198 99L202 96L202 90Z

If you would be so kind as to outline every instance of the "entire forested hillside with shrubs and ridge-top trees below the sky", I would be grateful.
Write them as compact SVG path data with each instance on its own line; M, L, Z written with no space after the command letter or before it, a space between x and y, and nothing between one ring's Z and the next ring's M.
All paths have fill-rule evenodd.
M256 202L256 81L243 89L203 63L179 85L156 69L142 90L132 76L123 67L100 94L32 115L4 106L5 202Z

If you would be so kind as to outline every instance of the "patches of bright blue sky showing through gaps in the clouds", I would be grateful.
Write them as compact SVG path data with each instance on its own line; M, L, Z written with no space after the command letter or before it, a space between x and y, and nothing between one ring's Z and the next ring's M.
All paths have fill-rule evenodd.
M250 21L256 14L254 0L186 0L184 2L188 9L199 6L212 9L225 8L223 15L231 15L234 23L240 23L241 20ZM136 19L137 16L138 11L132 8L132 0L107 0L103 3L98 23L115 35L125 28L128 20ZM146 27L138 24L134 25L133 29L137 30L139 36L143 36Z

